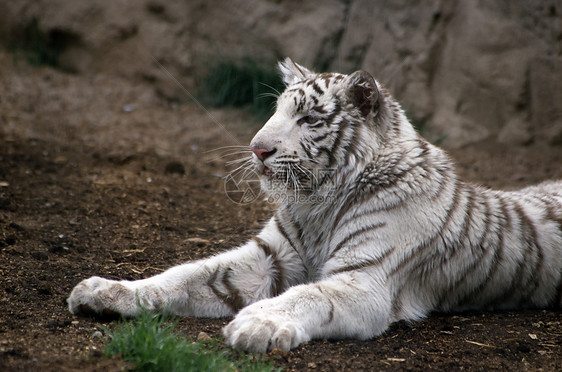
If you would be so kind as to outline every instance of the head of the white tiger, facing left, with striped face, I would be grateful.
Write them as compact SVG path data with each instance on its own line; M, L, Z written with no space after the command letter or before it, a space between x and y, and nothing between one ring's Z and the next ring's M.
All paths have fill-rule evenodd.
M250 143L262 190L330 192L355 177L406 122L398 104L365 71L314 73L279 63L286 90ZM398 122L398 123L396 123Z

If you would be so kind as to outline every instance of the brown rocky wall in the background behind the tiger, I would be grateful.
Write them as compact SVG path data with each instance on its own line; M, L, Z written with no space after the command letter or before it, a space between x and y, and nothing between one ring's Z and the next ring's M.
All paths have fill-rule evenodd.
M153 83L185 100L217 56L365 69L424 134L562 146L562 1L19 0L0 3L14 48L36 22L60 67ZM27 35L27 36L26 36Z

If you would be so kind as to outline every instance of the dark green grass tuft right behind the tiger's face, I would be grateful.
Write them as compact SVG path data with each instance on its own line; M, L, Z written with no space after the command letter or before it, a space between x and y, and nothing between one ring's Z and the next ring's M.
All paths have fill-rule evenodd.
M273 114L277 96L285 89L274 68L266 68L248 57L211 64L199 86L203 99L209 104L216 107L249 105L260 120Z

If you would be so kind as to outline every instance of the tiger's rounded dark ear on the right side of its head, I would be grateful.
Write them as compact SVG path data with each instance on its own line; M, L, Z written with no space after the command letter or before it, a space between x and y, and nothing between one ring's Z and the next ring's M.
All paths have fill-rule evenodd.
M375 79L366 71L355 71L347 77L347 93L363 116L375 115L379 109L379 89Z

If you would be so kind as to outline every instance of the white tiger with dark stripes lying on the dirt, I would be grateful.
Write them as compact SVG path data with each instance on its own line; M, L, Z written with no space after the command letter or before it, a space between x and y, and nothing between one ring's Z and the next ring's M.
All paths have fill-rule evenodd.
M368 339L434 310L562 305L562 182L462 182L367 72L279 68L287 89L250 145L264 191L287 196L274 217L209 259L84 280L72 313L235 315L226 342L265 352Z

